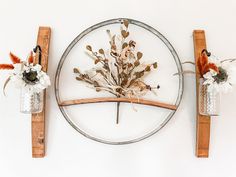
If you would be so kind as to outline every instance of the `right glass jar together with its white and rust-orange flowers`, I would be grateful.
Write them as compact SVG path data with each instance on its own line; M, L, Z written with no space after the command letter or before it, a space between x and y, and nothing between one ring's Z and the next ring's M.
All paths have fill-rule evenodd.
M190 61L183 63L197 66L200 77L199 88L197 90L200 97L198 99L198 108L201 115L219 115L220 93L231 91L236 84L236 67L232 64L234 61L236 59L219 60L206 49L203 49L196 64ZM183 72L183 74L186 73L195 72Z

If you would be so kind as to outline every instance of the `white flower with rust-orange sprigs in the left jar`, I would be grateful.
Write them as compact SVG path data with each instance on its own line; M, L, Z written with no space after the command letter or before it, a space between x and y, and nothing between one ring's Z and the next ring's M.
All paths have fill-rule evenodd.
M0 64L1 70L12 70L3 86L4 94L9 81L12 81L17 88L25 88L30 93L39 93L51 84L49 76L42 71L42 66L33 64L38 49L39 46L34 49L34 52L30 52L27 61L22 61L19 57L10 53L13 64Z

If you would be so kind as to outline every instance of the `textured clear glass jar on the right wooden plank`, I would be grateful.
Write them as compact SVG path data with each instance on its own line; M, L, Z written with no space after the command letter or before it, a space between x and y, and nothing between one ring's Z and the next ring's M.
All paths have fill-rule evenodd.
M218 116L220 112L220 94L212 90L208 91L208 86L203 85L204 79L199 80L198 109L199 114L205 116Z

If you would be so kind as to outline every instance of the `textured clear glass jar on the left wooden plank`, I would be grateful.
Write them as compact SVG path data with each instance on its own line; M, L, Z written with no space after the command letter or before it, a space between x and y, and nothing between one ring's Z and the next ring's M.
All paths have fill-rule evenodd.
M38 93L29 92L28 89L21 89L20 111L25 114L40 113L43 111L44 91Z

